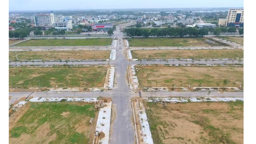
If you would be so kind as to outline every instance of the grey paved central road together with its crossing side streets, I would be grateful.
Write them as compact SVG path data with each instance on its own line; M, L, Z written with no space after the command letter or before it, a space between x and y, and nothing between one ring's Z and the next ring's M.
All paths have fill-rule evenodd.
M127 23L129 24L129 23ZM127 25L124 24L124 25ZM123 25L123 26L124 26ZM112 134L110 136L110 144L134 144L135 142L135 132L131 123L132 118L132 109L131 109L131 98L134 96L138 97L138 92L130 90L128 86L127 76L127 66L130 64L139 64L140 62L130 62L126 60L125 57L125 48L122 41L123 34L119 31L119 26L117 30L114 31L114 36L118 38L118 45L116 48L116 60L111 61L110 64L115 65L115 84L112 90L106 92L34 92L31 96L34 97L98 97L98 96L108 96L112 98L113 101L113 110L116 112L116 118L113 124ZM119 41L120 40L120 41ZM253 62L254 60L252 60ZM175 61L177 63L178 61ZM250 62L250 61L249 61ZM38 62L35 62L36 64ZM64 64L65 62L63 62ZM108 62L84 62L79 64L107 64ZM163 61L143 61L143 64L154 64L154 63L166 63ZM169 62L170 64L172 62ZM180 63L180 62L178 62ZM184 62L181 62L184 63ZM189 62L188 62L189 63ZM191 62L190 62L191 63ZM202 62L203 63L203 62ZM204 62L205 63L205 62ZM212 62L209 61L210 64ZM13 64L13 63L11 63ZM14 62L14 64L18 64ZM20 64L20 63L19 63ZM23 62L22 64L25 64ZM28 63L30 64L30 63ZM40 64L40 63L38 63ZM47 64L45 62L44 64ZM58 62L50 62L50 64L58 64ZM68 62L68 64L75 64ZM10 92L9 95L15 98L28 96L30 92ZM142 92L142 96L208 96L207 92ZM210 96L244 96L244 97L254 97L254 92L212 92Z

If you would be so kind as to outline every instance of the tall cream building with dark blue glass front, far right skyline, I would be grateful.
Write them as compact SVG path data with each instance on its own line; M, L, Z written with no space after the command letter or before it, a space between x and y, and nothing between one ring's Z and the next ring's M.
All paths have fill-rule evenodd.
M256 9L229 9L226 26L242 27L244 14L256 14Z

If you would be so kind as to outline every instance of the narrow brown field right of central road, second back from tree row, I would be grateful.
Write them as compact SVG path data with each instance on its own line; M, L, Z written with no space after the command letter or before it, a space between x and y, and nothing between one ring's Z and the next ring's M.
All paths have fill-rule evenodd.
M132 50L132 58L244 58L242 50Z

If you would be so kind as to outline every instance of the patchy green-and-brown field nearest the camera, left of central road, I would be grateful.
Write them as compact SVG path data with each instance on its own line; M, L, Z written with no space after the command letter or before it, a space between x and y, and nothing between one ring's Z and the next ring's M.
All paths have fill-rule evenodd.
M91 144L98 111L85 102L32 102L8 120L9 144ZM94 118L90 125L90 118Z

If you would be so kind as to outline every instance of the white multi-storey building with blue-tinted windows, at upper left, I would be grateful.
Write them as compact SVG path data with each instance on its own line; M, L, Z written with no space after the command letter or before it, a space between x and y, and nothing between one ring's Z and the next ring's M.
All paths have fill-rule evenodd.
M47 14L34 15L36 26L48 26L54 24L54 14L49 12Z

